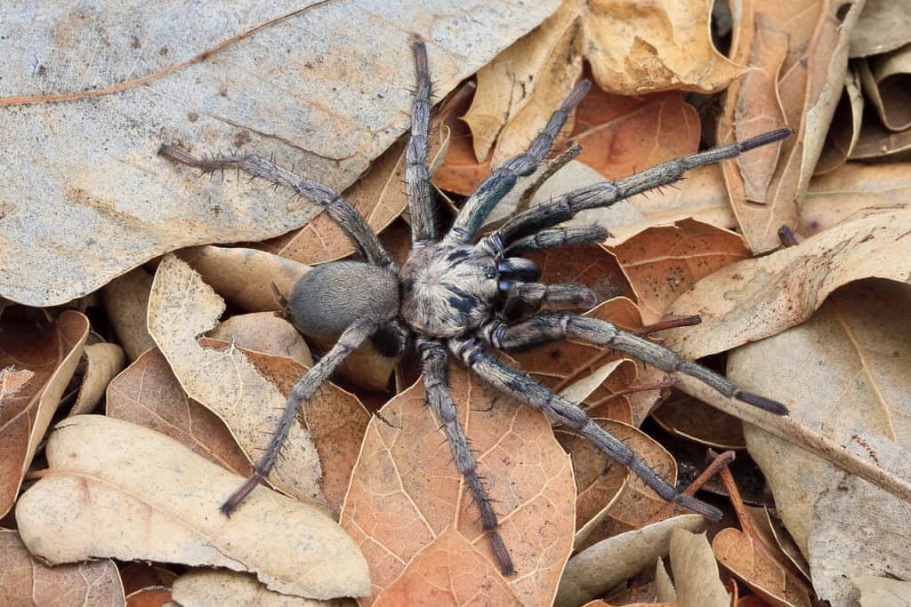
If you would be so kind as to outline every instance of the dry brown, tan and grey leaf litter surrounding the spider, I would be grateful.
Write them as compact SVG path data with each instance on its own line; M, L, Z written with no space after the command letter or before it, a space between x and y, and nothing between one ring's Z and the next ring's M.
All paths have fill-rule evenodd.
M46 146L51 152L31 170L7 158L13 164L4 171L5 191L9 197L30 187L21 199L35 202L37 218L61 216L38 204L36 193L78 207L59 226L38 224L40 233L6 232L15 256L5 256L0 292L31 305L89 297L67 306L79 311L36 312L6 301L0 307L7 358L0 361L0 438L15 448L0 469L0 487L7 506L16 506L3 538L18 563L0 575L0 597L15 602L59 590L80 603L103 596L98 603L156 605L315 605L322 603L300 595L358 594L364 605L911 602L908 502L895 496L911 487L901 397L908 391L901 320L911 281L911 172L902 162L911 130L901 47L911 37L901 27L906 13L887 4L817 2L795 13L796 5L773 0L734 3L728 58L709 36L717 41L723 25L710 23L706 3L695 1L640 11L627 3L541 2L523 15L513 5L482 2L470 8L474 15L500 12L433 38L441 106L432 168L439 167L435 186L453 209L492 166L527 145L578 76L590 74L600 85L558 137L557 152L579 143L581 155L534 197L507 197L487 228L519 206L715 141L782 125L797 131L779 147L692 171L676 187L580 215L576 225L609 229L600 247L533 256L543 280L594 288L599 305L587 313L625 329L700 314L701 325L653 339L690 358L712 355L720 369L726 356L732 378L788 403L790 430L763 429L719 410L710 420L702 413L708 405L683 400L678 390L676 403L655 419L691 443L752 456L767 493L749 495L760 496L769 513L738 505L736 487L728 487L733 505L726 508L738 524L708 529L712 555L705 536L682 531L702 530L700 517L675 511L585 441L454 368L459 414L481 453L503 534L517 547L519 575L507 578L491 559L438 421L422 406L422 386L407 387L415 369L406 360L394 369L369 349L335 378L341 387L327 384L302 410L291 457L281 464L287 469L271 479L292 497L263 484L250 508L221 517L220 499L237 475L250 472L268 440L259 432L271 428L294 381L327 348L272 315L280 306L271 283L286 294L312 265L353 249L318 208L286 193L230 173L201 181L154 157L162 137L194 151L275 153L282 164L348 187L345 196L372 228L385 228L384 244L401 252L408 217L404 142L396 138L407 117L397 112L408 105L399 84L411 82L412 69L404 29L438 32L451 15L409 5L394 18L394 34L364 35L363 11L280 4L232 15L220 27L218 15L207 15L166 45L153 44L150 25L138 26L133 46L130 25L99 10L87 15L89 23L110 41L127 42L140 58L138 71L129 74L128 54L110 46L79 89L67 75L90 52L83 43L61 51L64 61L44 60L48 49L86 39L77 35L80 25L53 13L56 38L42 32L32 42L46 44L40 65L29 71L15 63L22 53L2 54L28 75L0 85L0 116L12 120L4 132L19 150L15 158L34 158L21 141L34 136L28 133L41 112L60 125L56 143ZM28 16L16 15L14 27ZM149 23L162 19L168 15ZM408 20L416 25L403 29ZM294 29L302 24L334 26L353 55L329 61L337 51L319 38L302 42ZM228 46L203 56L226 39ZM275 66L276 49L288 45L290 62ZM364 65L389 70L380 84L360 76L372 71L358 66L365 49ZM486 62L474 80L459 82ZM229 67L237 76L252 73L243 67L252 65L272 84L291 82L292 105L281 87L262 92L253 79L228 77ZM187 80L193 75L218 86L203 90ZM172 95L162 97L161 86L172 86ZM333 86L338 91L330 92ZM156 95L159 106L145 123L124 117ZM251 106L238 104L245 95L255 100ZM121 117L102 124L112 112ZM97 147L64 145L76 137L78 120L107 134L107 156L99 158ZM74 157L74 149L83 152ZM117 181L107 177L113 174ZM8 202L0 217L18 217L23 207ZM793 229L796 246L782 248L783 225ZM65 237L55 236L59 227ZM22 238L31 239L25 245ZM231 244L205 246L212 242ZM204 246L181 249L189 245ZM176 256L156 258L176 249ZM534 378L581 402L662 475L691 480L693 462L684 466L681 452L666 449L649 420L671 393L664 373L574 339L514 357ZM77 369L80 358L87 362ZM686 381L678 388L737 413ZM105 416L84 414L99 406ZM70 410L76 415L49 433ZM67 432L84 439L67 442ZM77 457L63 457L65 450ZM892 493L839 468L845 465L892 482L885 483ZM174 467L196 471L178 481L165 471ZM732 484L730 473L721 474ZM196 491L193 501L180 501L188 491ZM73 506L61 511L61 500ZM715 503L723 505L721 498ZM276 525L269 512L276 511L293 514L279 515L281 531L269 531ZM333 522L339 516L341 528ZM315 570L302 576L290 556L300 553L282 546L311 527L333 538L333 550L344 551L351 567L326 569L314 556ZM158 541L140 533L153 528ZM228 548L213 551L200 541L235 532L239 539ZM20 533L26 543L15 547ZM672 582L660 561L668 554ZM103 560L88 560L96 557ZM108 557L120 562L119 571ZM57 559L75 564L48 569L42 561ZM123 563L136 559L185 566L140 574L129 570L139 564ZM87 586L95 575L103 582Z

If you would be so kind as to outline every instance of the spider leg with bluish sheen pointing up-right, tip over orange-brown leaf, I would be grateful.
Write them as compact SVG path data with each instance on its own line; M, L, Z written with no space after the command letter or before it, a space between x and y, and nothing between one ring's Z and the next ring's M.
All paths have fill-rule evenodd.
M509 158L477 187L475 193L466 200L465 206L459 210L453 227L446 235L446 240L464 245L475 239L477 230L484 219L496 207L496 203L516 185L518 177L535 172L553 145L560 128L566 123L570 112L586 96L589 88L591 88L591 83L588 80L579 82L563 105L559 106L559 109L550 116L548 125L531 142L527 152Z

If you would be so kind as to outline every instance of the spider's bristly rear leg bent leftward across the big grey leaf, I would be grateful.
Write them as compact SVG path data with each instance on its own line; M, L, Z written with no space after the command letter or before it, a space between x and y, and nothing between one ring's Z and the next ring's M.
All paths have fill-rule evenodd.
M181 165L200 168L203 173L212 173L235 167L247 173L251 178L262 177L276 186L290 187L301 197L325 207L329 217L345 231L358 252L374 266L392 266L393 260L386 253L379 238L361 217L361 214L345 200L341 194L321 183L298 177L291 171L279 167L271 159L254 156L194 157L177 147L163 145L159 147L159 156L169 158Z

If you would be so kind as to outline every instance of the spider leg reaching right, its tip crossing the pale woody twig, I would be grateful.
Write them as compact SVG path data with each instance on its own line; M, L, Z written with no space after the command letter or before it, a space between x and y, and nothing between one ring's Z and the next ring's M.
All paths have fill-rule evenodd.
M692 360L684 359L673 350L649 339L617 329L614 324L609 323L607 320L592 319L564 312L548 312L538 314L511 327L507 327L502 323L493 326L496 322L498 321L493 321L489 329L481 332L481 335L490 339L490 343L496 348L527 348L544 341L565 339L567 335L575 335L592 343L619 349L621 352L626 352L659 369L671 373L683 373L699 379L702 383L729 399L742 400L754 407L776 415L787 415L788 412L787 408L777 400L767 399L745 389L740 389L737 384L723 375L707 369Z

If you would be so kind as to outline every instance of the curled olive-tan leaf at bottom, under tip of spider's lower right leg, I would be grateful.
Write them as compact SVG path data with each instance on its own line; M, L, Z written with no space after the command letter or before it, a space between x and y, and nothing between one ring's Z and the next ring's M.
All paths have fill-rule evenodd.
M665 556L674 529L695 532L704 524L705 519L698 514L682 514L599 541L569 559L554 604L576 607L608 592Z

